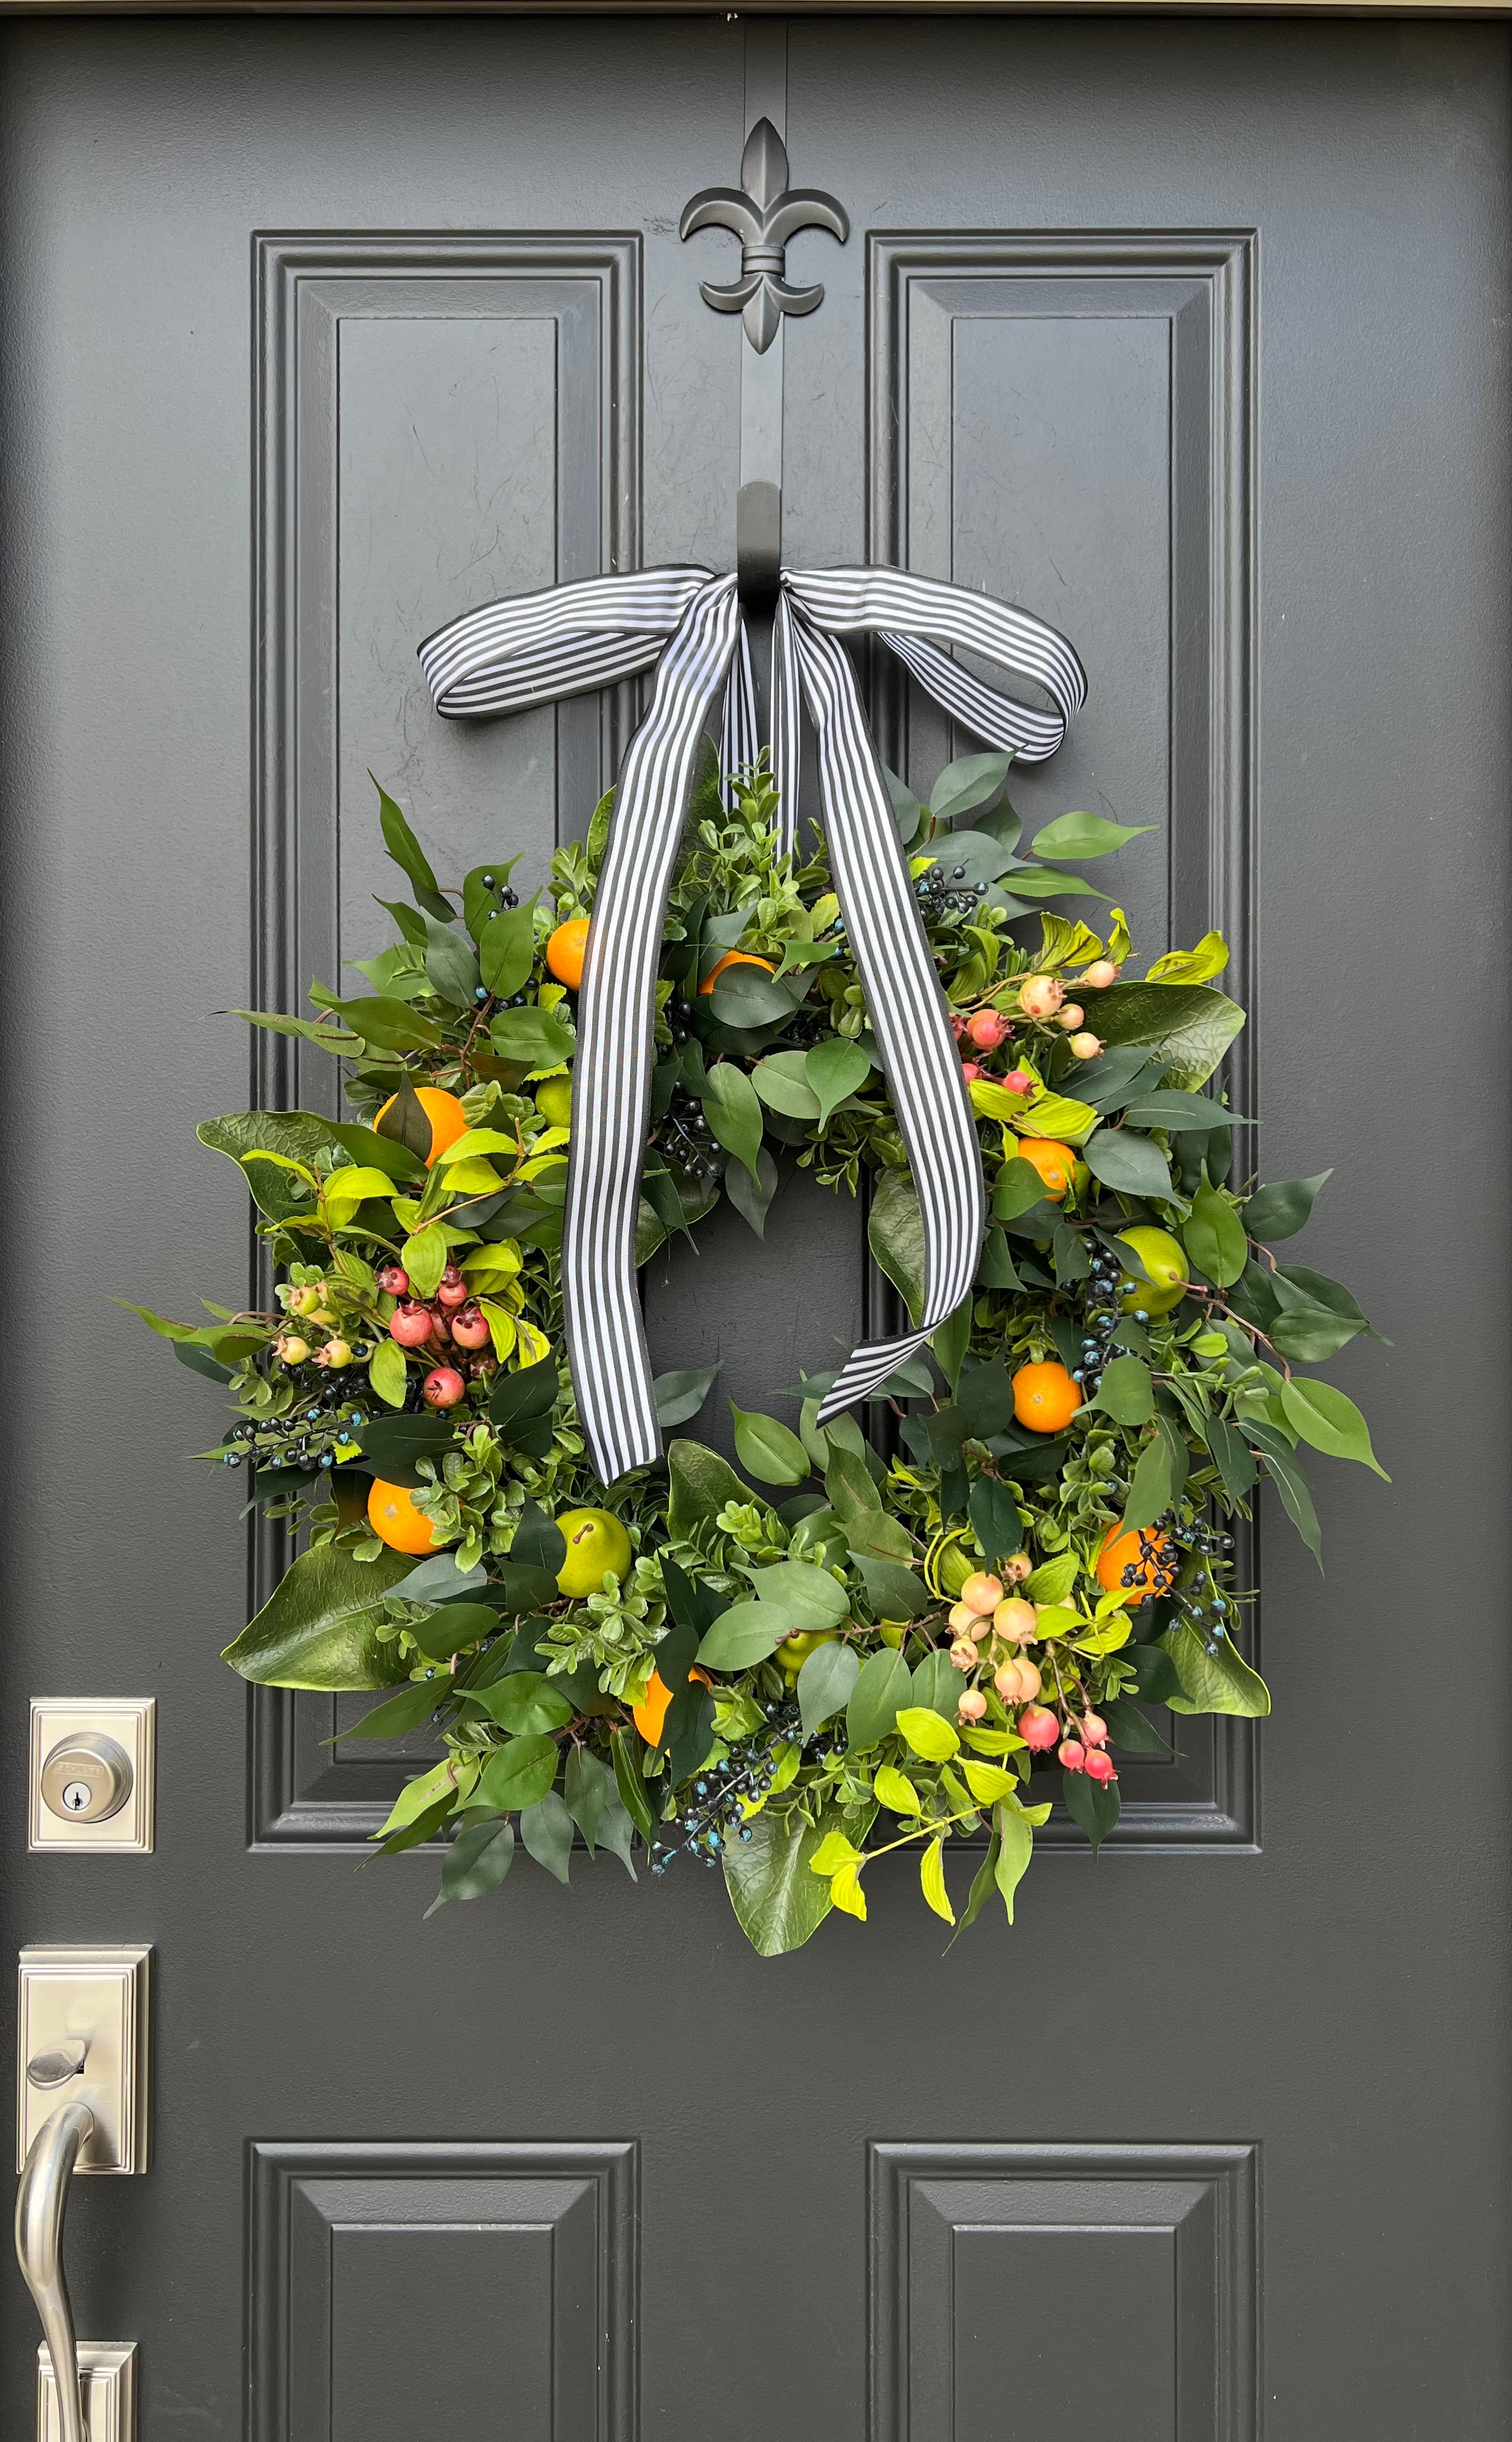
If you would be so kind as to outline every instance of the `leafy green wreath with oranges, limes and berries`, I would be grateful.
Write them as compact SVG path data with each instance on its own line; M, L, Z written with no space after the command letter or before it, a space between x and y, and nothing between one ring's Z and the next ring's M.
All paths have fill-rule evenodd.
M1053 1800L1097 1851L1119 1758L1168 1751L1148 1707L1270 1709L1234 1526L1268 1477L1321 1565L1299 1446L1380 1468L1358 1407L1295 1368L1370 1324L1273 1253L1326 1172L1258 1184L1248 1121L1202 1092L1243 1026L1214 989L1221 935L1121 979L1121 911L1099 935L1048 901L1099 896L1055 860L1136 833L1065 813L1021 852L1006 777L1009 755L965 757L931 806L889 777L992 1219L972 1297L870 1431L818 1424L816 1348L787 1416L730 1399L738 1468L672 1438L662 1465L591 1473L559 1248L611 799L520 904L513 857L442 889L379 791L410 896L357 962L369 991L239 1011L330 1053L349 1116L205 1121L256 1204L264 1302L134 1311L227 1387L200 1455L298 1541L227 1663L386 1690L342 1736L440 1736L379 1834L445 1841L437 1907L503 1883L515 1844L562 1883L579 1839L630 1875L640 1844L652 1875L723 1866L772 1956L831 1907L865 1917L894 1851L955 1924L948 1844L975 1841L960 1924L994 1890L1011 1922ZM706 750L662 928L638 1260L696 1241L721 1197L760 1236L801 1167L867 1194L916 1316L921 1214L826 845L782 852L774 803L765 757L721 784ZM662 1426L716 1375L662 1375Z

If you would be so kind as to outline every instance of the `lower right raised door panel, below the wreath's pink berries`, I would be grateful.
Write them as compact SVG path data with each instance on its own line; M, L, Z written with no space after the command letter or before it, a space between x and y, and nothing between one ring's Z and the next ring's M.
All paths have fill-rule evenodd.
M872 2442L1001 2430L1009 2291L1036 2442L1256 2442L1258 2186L1256 2144L872 2144Z

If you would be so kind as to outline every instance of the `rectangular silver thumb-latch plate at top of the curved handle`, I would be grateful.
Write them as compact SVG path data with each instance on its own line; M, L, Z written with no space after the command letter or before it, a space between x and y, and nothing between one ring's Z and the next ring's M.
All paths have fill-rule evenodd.
M95 2132L78 2156L81 2173L147 2171L147 1971L151 1946L49 1946L22 1951L17 1988L15 2161L24 2168L37 2129L59 2103L88 2103ZM66 2085L32 2085L27 2061L85 2044L83 2068Z

